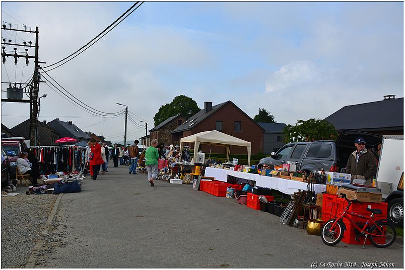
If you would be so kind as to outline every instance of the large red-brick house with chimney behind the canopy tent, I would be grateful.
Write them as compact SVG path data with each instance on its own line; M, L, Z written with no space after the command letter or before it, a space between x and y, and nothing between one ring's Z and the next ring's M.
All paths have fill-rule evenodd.
M180 142L180 138L209 130L218 130L251 142L252 154L263 152L264 129L231 101L215 106L212 105L212 102L205 102L203 110L200 110L171 132L172 142ZM210 149L212 153L224 153L226 151L224 147L201 146L203 152L210 152ZM231 153L246 154L246 149L232 148Z

